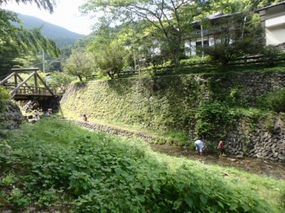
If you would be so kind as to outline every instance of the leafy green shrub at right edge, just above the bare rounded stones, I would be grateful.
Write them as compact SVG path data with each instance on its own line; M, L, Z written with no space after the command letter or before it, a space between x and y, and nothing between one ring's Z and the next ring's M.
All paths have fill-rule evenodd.
M269 92L258 99L259 107L276 112L285 111L285 87L279 91Z

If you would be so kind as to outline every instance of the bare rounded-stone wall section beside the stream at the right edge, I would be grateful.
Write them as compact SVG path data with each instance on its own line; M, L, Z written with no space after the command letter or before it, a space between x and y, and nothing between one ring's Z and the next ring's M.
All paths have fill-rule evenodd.
M261 121L252 131L237 124L225 142L227 151L234 155L285 162L285 116L276 117L270 128Z

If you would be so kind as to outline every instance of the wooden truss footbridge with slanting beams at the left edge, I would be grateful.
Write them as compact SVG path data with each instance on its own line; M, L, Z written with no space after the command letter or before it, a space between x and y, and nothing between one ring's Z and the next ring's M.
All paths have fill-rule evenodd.
M40 75L38 75L38 68L21 68L12 69L12 73L4 80L1 80L0 85L6 87L10 92L11 99L15 100L28 100L28 99L47 99L53 97L54 93L52 89L48 87L46 82L43 81ZM28 77L23 80L19 75L19 72L31 72ZM33 77L34 86L28 85L28 80ZM38 86L38 80L41 81L44 87ZM9 82L8 82L9 81Z

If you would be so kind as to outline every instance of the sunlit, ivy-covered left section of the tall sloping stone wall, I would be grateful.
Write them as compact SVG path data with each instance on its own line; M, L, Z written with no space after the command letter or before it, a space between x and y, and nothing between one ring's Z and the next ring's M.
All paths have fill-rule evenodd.
M153 129L185 129L203 93L192 76L95 81L72 84L61 109L64 116L87 114Z

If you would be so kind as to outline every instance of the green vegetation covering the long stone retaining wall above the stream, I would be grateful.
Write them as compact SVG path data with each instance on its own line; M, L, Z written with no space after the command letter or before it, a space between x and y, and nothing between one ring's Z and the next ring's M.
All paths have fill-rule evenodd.
M270 79L271 74L278 72L252 75ZM133 125L142 130L182 135L189 135L189 130L193 130L196 137L218 141L237 122L251 129L266 116L276 116L274 111L259 106L257 99L267 99L266 107L276 105L279 111L284 110L284 89L262 97L258 89L261 85L254 84L256 90L252 92L247 78L249 76L243 73L216 73L76 83L66 90L61 112L68 118L87 114L90 121ZM269 104L272 97L274 104ZM172 141L179 145L187 143L187 137L185 141L180 139Z

